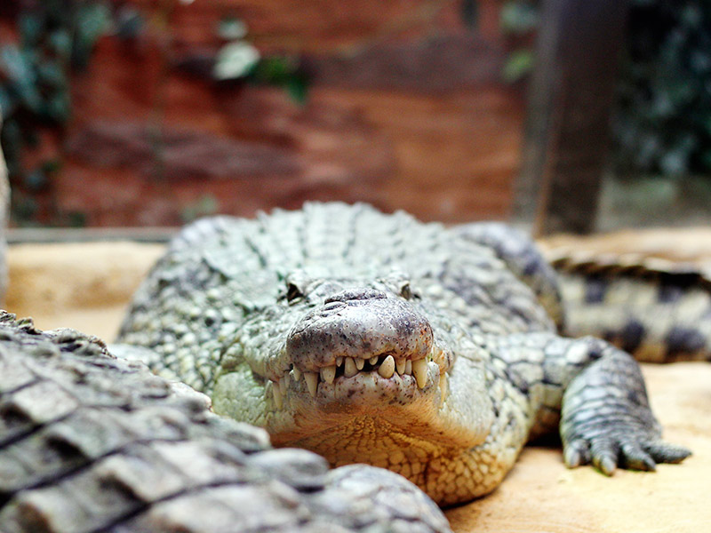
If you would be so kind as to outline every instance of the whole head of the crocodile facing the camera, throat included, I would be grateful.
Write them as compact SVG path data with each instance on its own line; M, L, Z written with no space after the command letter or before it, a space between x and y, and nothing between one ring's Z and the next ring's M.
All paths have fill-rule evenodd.
M443 496L443 476L467 468L489 434L483 354L427 301L434 288L399 273L284 281L224 355L214 410L332 465L403 473L440 502L475 496Z

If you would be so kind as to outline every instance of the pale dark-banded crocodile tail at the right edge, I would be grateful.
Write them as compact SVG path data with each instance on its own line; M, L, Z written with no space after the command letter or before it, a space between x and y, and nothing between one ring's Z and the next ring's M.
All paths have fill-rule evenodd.
M711 275L662 259L552 259L566 335L595 335L643 362L711 361Z

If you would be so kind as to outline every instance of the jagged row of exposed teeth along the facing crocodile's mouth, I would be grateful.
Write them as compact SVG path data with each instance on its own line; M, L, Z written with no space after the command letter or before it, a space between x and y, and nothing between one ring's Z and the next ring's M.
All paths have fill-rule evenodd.
M451 368L451 354L438 346L430 346L424 357L397 357L378 354L370 358L339 356L332 364L318 371L302 370L292 363L281 378L269 379L265 394L271 397L276 410L283 410L292 395L317 404L331 405L348 402L351 406L359 398L369 396L389 400L388 404L409 403L423 394L439 391L439 402L449 393L447 372Z

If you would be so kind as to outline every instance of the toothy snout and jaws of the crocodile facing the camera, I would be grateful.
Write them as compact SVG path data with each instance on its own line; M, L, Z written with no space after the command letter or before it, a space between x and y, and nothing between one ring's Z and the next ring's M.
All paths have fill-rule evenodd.
M286 365L266 384L273 407L316 406L329 414L373 412L430 395L441 404L453 360L417 306L372 289L344 290L309 310L289 332L283 356Z

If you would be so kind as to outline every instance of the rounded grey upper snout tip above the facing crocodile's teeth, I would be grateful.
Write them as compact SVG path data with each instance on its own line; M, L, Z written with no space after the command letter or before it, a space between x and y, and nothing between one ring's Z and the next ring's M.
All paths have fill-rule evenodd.
M423 359L432 346L427 319L399 298L380 290L343 290L304 316L289 333L286 351L294 367L319 371L339 358L369 361ZM359 365L362 368L362 365Z

